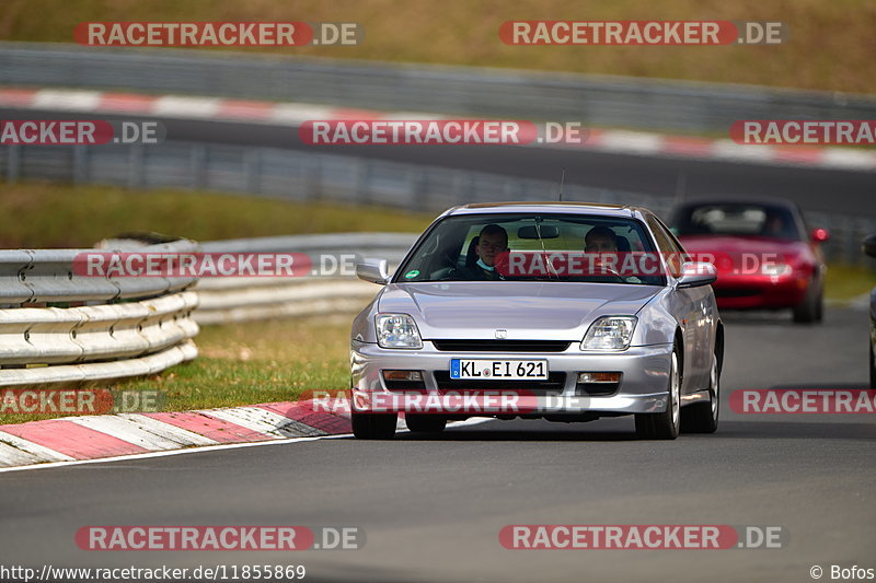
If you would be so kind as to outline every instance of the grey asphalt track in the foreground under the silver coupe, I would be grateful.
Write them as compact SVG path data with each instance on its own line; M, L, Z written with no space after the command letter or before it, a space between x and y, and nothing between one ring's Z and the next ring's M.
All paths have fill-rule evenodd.
M491 421L438 438L332 439L0 475L0 564L304 564L309 581L811 581L876 568L876 419L741 416L739 388L861 388L866 313L821 326L724 314L714 435L636 441L629 418ZM335 525L360 550L89 552L85 525ZM727 524L786 529L783 549L506 550L508 524Z

